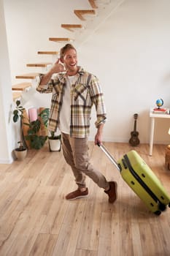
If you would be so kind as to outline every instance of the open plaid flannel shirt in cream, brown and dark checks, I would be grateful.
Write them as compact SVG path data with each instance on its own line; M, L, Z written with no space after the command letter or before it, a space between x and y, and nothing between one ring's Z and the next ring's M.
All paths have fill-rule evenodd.
M70 96L70 136L86 138L90 132L90 114L93 105L96 107L96 127L106 121L103 93L96 76L81 67L77 72L77 80L72 84ZM41 80L41 75L40 75ZM60 110L66 86L66 72L54 74L47 85L38 85L36 91L53 93L50 106L48 129L56 131L60 121Z

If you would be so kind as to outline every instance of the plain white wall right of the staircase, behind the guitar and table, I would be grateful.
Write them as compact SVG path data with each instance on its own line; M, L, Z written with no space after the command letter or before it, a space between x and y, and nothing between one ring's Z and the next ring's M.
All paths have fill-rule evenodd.
M124 1L83 45L80 60L104 88L107 140L127 141L139 113L139 137L148 142L150 106L160 97L170 106L169 7L164 0ZM170 122L158 123L155 141L166 143Z

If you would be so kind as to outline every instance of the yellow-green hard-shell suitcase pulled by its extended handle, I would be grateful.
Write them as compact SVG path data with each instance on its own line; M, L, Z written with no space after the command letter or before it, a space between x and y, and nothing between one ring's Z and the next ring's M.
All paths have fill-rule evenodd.
M170 207L170 196L165 187L136 151L129 151L116 162L104 145L98 144L98 146L120 170L124 181L134 190L150 211L160 215L161 211L166 209L166 206Z

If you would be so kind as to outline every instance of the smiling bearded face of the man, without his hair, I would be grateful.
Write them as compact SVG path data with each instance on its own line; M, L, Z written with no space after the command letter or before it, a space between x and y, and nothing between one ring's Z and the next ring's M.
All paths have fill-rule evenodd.
M77 72L77 53L74 49L67 50L61 61L68 72Z

